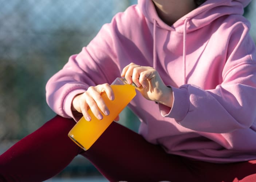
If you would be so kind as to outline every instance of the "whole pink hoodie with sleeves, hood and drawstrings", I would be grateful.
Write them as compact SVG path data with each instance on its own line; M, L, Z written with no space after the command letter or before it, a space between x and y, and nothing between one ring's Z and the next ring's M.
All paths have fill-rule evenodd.
M147 141L202 161L256 159L256 48L242 16L249 2L207 0L170 27L152 1L139 0L52 76L47 103L74 118L76 94L113 82L130 62L154 67L174 103L158 105L139 93L132 100Z

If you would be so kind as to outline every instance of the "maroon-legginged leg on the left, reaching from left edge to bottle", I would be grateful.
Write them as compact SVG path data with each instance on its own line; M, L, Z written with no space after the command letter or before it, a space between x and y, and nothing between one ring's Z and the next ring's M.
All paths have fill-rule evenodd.
M73 119L56 116L0 155L0 181L44 181L78 154L67 134Z

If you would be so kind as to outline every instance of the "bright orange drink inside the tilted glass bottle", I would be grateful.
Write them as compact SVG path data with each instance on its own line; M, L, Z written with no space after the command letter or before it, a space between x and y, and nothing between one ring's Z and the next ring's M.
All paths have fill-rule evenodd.
M110 114L107 116L102 114L103 119L99 120L89 109L88 114L91 116L91 121L87 121L82 117L68 133L68 137L84 150L88 150L92 146L136 95L135 87L129 84L111 84L111 88L114 91L114 100L109 100L105 92L102 94Z

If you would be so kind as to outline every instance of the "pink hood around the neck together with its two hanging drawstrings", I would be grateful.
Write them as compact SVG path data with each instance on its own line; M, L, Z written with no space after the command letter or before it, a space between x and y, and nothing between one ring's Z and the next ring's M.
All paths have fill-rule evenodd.
M183 51L182 51L182 70L183 83L186 79L186 40L187 33L210 24L218 17L230 14L243 14L243 7L249 4L251 0L207 0L200 7L194 9L188 14L178 19L172 26L166 24L158 16L155 5L152 0L139 0L138 6L144 13L145 17L153 23L153 68L157 70L157 27L167 31L175 31L183 34ZM220 7L220 8L219 8ZM235 11L235 12L234 12Z

